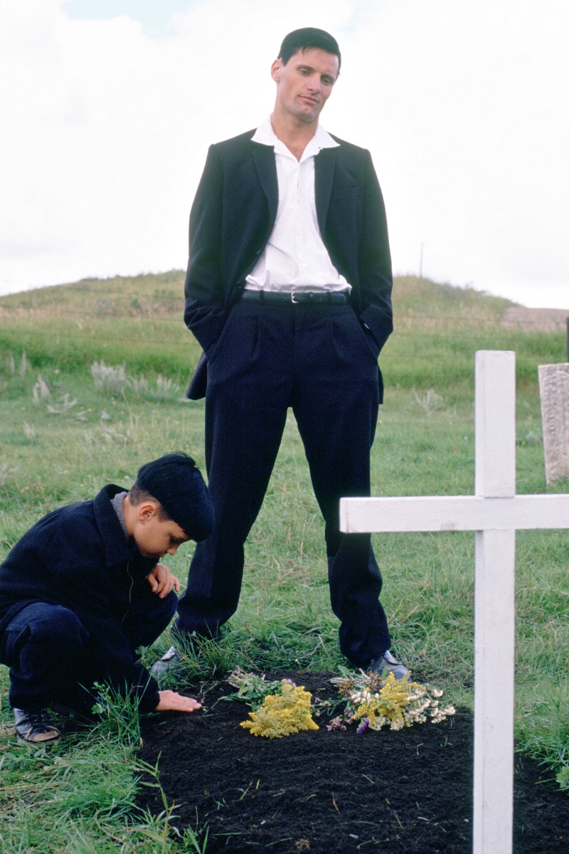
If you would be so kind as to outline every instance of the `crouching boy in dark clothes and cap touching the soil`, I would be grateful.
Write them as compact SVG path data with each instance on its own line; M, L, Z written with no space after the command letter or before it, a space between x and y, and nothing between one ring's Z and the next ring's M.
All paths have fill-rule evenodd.
M200 704L158 684L140 663L170 623L180 583L160 559L206 538L213 508L191 457L169 453L142 465L126 491L49 513L0 564L0 663L9 666L16 734L46 744L60 733L49 708L87 711L105 681L141 711L194 711Z

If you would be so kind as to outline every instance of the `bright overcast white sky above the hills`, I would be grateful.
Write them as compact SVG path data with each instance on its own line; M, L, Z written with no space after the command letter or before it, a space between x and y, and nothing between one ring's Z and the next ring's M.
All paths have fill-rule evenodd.
M0 293L184 268L299 26L340 43L322 125L373 155L394 272L569 308L569 0L0 0Z

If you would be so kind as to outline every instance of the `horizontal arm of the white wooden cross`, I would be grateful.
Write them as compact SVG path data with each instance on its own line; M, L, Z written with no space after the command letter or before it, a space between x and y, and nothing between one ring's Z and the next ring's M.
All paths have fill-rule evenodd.
M342 498L340 530L482 531L569 527L569 495L437 495L401 498Z

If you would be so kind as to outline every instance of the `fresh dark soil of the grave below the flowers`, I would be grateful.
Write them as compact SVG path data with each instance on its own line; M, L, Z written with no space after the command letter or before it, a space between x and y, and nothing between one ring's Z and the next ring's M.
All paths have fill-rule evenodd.
M332 674L280 673L321 699L336 696ZM455 717L400 732L317 732L256 738L240 727L249 707L218 701L227 682L184 688L204 703L188 716L148 717L139 757L155 765L171 823L209 828L207 854L266 849L276 854L470 854L473 718ZM514 757L514 852L569 851L569 798L540 767ZM156 788L141 806L164 809ZM499 854L499 852L496 852Z

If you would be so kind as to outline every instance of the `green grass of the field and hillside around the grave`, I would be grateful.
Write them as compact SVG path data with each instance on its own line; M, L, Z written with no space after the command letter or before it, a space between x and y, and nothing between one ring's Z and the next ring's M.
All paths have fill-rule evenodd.
M0 559L45 512L89 499L103 483L129 486L160 453L187 450L205 468L203 403L183 397L199 348L183 327L182 286L183 274L171 272L0 299ZM566 491L567 482L545 486L537 389L537 366L565 360L564 331L504 330L509 303L472 290L406 278L395 293L374 494L473 493L474 354L482 348L516 352L518 492ZM95 361L124 364L138 384L114 395L96 389ZM156 400L159 374L171 388ZM446 699L471 706L473 535L375 535L374 547L396 652ZM191 552L182 547L169 561L183 582ZM516 740L560 779L569 774L567 565L567 532L517 535ZM209 680L235 666L337 670L345 664L337 630L321 518L291 416L249 537L239 611L222 646L188 653L180 672ZM169 642L166 633L145 653L148 664ZM10 735L7 693L0 667L0 851L200 851L203 828L178 839L167 804L159 818L136 811L131 709L115 703L96 728L39 749Z

